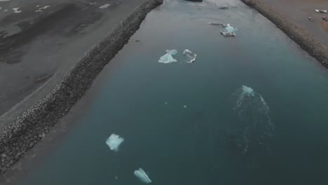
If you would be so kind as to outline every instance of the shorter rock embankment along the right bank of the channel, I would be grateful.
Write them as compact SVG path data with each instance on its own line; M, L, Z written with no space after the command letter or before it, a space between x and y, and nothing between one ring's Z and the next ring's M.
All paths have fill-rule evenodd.
M306 50L311 56L315 57L324 67L328 67L328 48L319 41L313 39L310 33L297 26L292 20L285 18L278 11L273 10L271 6L262 0L241 0L248 6L256 9L271 20L282 32L285 32L294 42L299 44L303 50Z

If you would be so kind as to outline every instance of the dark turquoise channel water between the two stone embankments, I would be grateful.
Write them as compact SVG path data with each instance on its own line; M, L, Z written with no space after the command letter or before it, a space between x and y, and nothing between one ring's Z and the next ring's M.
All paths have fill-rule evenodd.
M142 184L139 167L163 185L328 184L327 70L256 11L217 4L235 8L166 1L149 13L83 121L22 184ZM179 62L157 62L167 49Z

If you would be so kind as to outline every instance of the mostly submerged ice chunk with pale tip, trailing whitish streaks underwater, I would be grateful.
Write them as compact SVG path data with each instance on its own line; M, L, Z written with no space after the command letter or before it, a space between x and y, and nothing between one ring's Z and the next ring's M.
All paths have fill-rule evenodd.
M275 125L269 116L270 109L264 97L246 85L242 85L235 94L237 101L233 110L242 123L235 144L242 154L250 149L268 149Z

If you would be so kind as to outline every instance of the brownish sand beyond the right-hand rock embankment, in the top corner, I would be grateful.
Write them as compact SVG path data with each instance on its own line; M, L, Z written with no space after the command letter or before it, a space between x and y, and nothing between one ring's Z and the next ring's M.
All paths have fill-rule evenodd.
M296 25L306 29L317 41L328 46L328 22L322 17L328 17L328 13L316 13L315 9L328 10L326 0L262 0L272 6L276 11L285 15ZM313 22L308 20L312 17Z

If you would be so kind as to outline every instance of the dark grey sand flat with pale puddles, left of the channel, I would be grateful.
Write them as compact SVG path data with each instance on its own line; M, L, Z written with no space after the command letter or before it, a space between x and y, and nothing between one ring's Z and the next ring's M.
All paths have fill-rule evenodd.
M57 83L141 2L0 1L0 116L46 82Z

